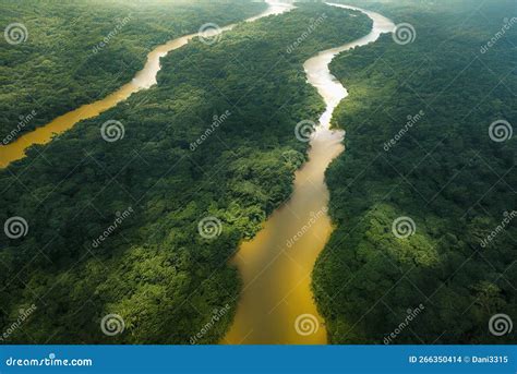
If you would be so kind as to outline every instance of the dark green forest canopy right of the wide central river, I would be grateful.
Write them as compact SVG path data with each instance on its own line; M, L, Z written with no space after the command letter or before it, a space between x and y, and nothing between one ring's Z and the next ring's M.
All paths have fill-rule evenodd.
M489 331L494 314L517 317L515 1L342 2L416 38L330 65L350 93L326 173L337 228L313 275L330 341L515 342ZM413 234L394 234L399 217Z

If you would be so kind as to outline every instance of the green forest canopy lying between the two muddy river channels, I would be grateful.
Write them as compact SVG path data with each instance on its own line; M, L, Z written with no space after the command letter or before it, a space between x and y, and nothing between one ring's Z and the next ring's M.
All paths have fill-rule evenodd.
M218 341L240 289L227 261L289 195L308 146L293 129L324 109L303 61L370 28L360 13L300 4L193 40L163 59L156 86L3 170L0 221L23 217L28 232L0 239L0 325L37 306L10 341L188 343L228 305L196 338ZM110 120L124 128L111 143ZM206 217L215 231L200 236ZM103 334L108 314L123 334Z

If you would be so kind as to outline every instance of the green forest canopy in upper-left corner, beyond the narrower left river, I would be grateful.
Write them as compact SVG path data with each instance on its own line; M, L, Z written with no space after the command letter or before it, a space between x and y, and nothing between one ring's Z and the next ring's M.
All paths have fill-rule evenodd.
M13 25L12 40L25 40L0 43L0 142L11 142L131 81L153 47L197 32L207 22L223 26L258 14L266 5L239 0L2 0L0 8L2 31Z

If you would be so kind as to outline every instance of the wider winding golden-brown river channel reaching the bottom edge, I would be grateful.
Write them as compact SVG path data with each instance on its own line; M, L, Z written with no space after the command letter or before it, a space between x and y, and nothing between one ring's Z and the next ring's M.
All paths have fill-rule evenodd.
M330 118L346 88L330 74L328 64L346 50L375 41L394 29L381 14L359 10L373 20L370 34L337 48L324 50L304 63L308 82L326 104L312 134L309 161L296 173L290 200L276 209L263 230L241 244L232 262L243 289L233 325L223 343L326 343L326 329L311 291L311 273L333 230L328 217L328 190L324 173L342 150L344 131L330 130Z

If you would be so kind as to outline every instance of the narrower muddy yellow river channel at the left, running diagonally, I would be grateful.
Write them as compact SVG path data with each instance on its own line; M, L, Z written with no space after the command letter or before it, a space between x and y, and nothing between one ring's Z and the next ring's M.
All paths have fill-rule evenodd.
M289 3L279 2L277 0L267 0L268 8L258 15L252 16L247 22L253 22L272 14L279 14L289 11L293 7ZM237 24L221 27L218 32L225 32L233 28ZM131 94L141 89L149 88L156 84L156 74L160 70L160 58L168 52L178 49L189 43L190 39L199 34L191 34L170 40L161 46L156 47L147 55L144 68L136 73L133 80L108 95L107 97L60 116L29 133L20 136L7 145L0 145L0 168L7 167L12 161L21 159L25 156L25 149L34 144L46 144L58 135L82 120L97 117L103 111L115 107L118 102L125 100Z

